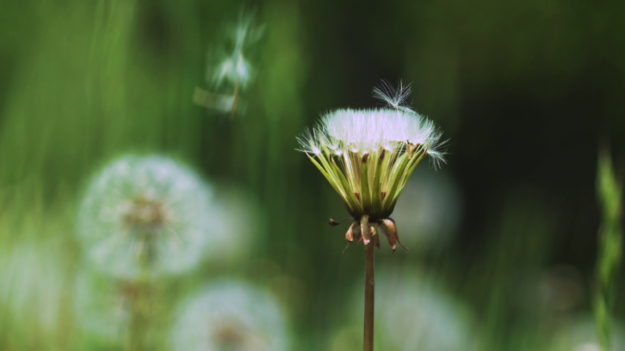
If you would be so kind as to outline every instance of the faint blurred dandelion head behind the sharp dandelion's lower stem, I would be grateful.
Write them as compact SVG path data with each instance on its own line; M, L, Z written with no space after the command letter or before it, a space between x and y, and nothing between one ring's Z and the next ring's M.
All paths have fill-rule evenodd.
M397 351L462 351L474 347L471 311L441 284L418 269L381 267L376 279L376 349ZM360 284L354 294L362 290ZM360 294L359 294L360 295ZM362 298L349 307L353 325L361 315ZM351 325L337 329L331 350L361 349Z

